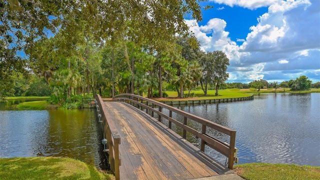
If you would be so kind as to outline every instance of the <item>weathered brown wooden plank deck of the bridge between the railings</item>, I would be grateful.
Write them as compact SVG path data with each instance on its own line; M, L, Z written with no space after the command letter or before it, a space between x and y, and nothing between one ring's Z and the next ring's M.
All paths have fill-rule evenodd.
M144 111L104 102L121 143L120 179L194 179L233 173Z

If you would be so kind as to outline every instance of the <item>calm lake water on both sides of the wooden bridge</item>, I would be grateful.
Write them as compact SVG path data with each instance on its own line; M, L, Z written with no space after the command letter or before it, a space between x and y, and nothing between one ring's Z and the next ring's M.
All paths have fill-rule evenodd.
M71 157L104 168L95 109L3 110L6 107L0 103L0 157ZM320 93L255 94L249 101L176 107L236 130L239 163L320 166ZM172 129L182 133L173 124ZM228 141L214 130L207 133ZM187 139L199 140L190 134ZM225 156L214 150L206 147L205 152L225 162Z

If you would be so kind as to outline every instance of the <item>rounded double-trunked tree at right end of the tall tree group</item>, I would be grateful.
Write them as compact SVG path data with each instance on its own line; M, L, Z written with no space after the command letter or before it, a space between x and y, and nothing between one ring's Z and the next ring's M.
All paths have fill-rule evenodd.
M213 52L204 53L203 57L200 59L200 64L202 66L200 84L204 95L207 94L207 84L209 83L214 84L215 95L218 95L220 84L224 83L229 77L229 73L226 72L227 65L229 65L229 59L221 50L215 50Z

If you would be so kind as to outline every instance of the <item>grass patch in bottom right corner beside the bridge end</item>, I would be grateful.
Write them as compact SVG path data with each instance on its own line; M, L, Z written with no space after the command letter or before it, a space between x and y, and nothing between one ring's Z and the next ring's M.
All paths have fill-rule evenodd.
M244 179L320 179L320 167L295 164L247 163L235 165Z

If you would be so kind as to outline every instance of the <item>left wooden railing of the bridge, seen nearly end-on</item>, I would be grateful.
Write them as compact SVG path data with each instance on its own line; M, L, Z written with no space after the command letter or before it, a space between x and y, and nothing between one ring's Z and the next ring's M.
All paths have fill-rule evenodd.
M95 95L95 100L99 111L101 112L102 124L103 124L103 136L107 139L107 146L109 151L109 164L111 171L114 173L115 179L120 179L119 166L121 165L119 144L120 135L115 127L109 113L106 111L106 106L102 101L99 94Z

